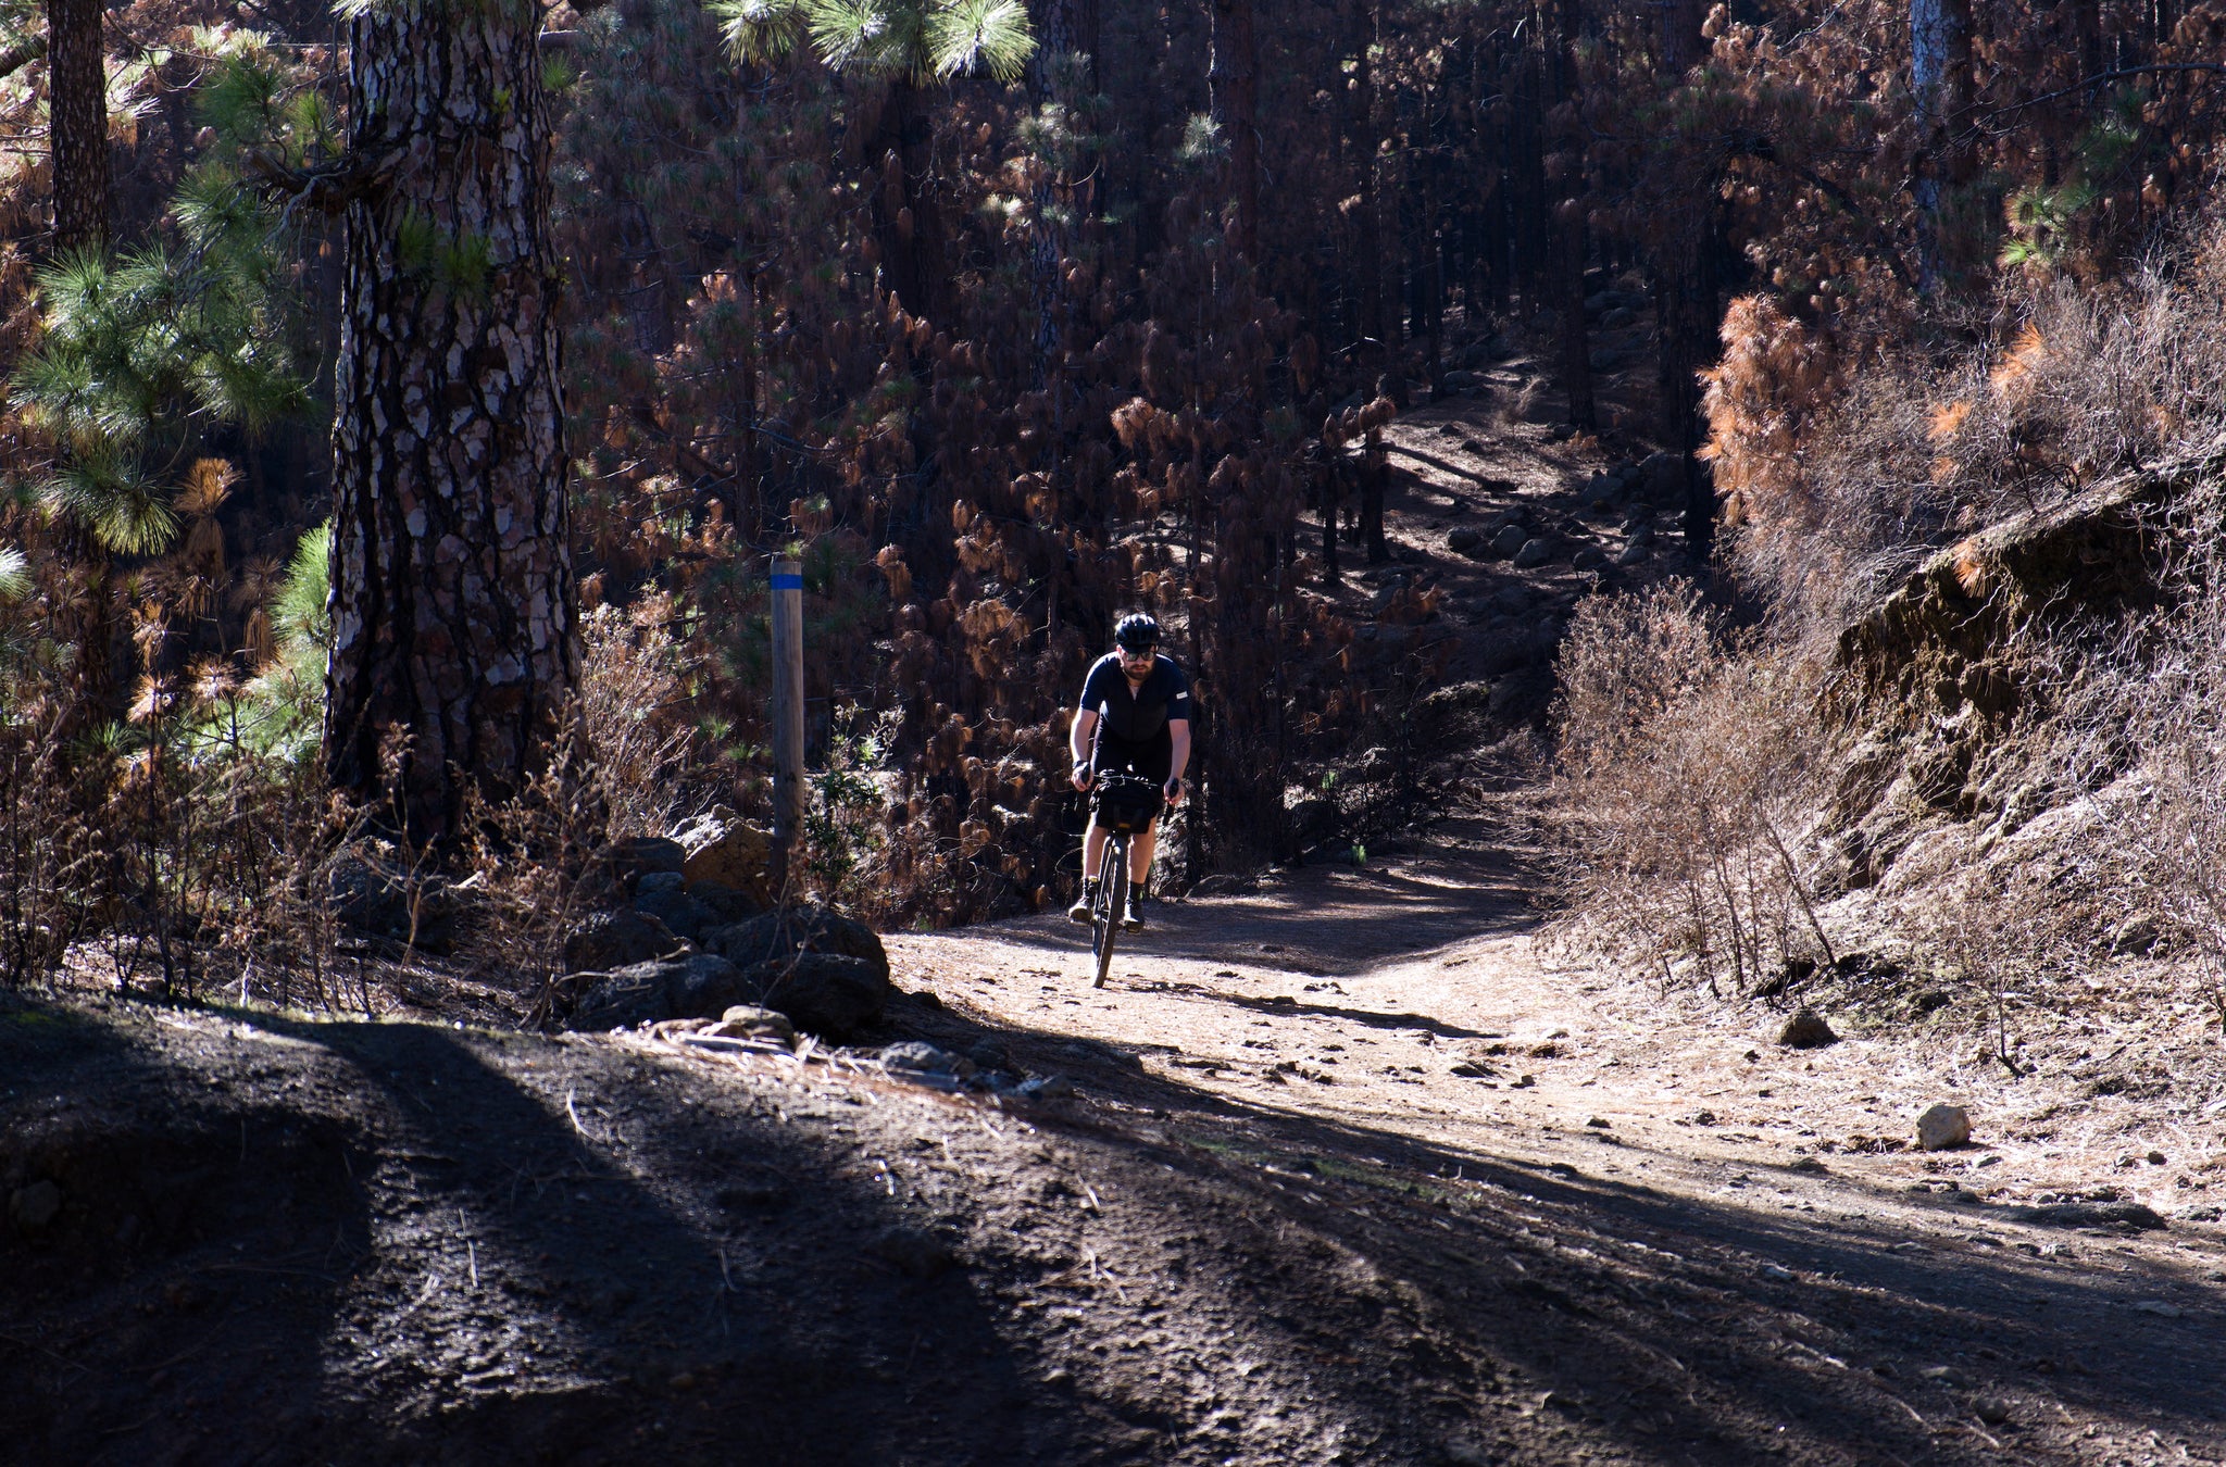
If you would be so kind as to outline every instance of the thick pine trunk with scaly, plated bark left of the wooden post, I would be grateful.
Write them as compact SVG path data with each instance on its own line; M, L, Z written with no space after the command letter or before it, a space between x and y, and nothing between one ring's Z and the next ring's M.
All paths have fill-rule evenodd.
M548 111L525 0L349 22L325 761L418 839L539 766L579 681Z

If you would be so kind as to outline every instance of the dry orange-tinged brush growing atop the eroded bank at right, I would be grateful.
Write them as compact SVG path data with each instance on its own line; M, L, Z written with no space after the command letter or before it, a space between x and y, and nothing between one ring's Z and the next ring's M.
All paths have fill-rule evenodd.
M1834 341L1736 301L1703 450L1736 574L1783 634L1828 637L1948 539L2208 439L2226 423L2222 314L2222 223L2106 285L2010 276L1948 345Z

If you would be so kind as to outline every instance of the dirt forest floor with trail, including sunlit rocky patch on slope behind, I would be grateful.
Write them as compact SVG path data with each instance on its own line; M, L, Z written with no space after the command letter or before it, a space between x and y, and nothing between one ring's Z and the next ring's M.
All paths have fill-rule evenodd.
M1583 467L1518 447L1487 494ZM1787 1051L1565 962L1534 801L1155 904L1102 991L1055 913L890 937L886 1037L1073 1086L1035 1102L873 1051L0 997L0 1456L2226 1460L2226 1235L2166 1209L2208 1187L2193 1102L1941 1026ZM1977 1144L1892 1149L1932 1100Z

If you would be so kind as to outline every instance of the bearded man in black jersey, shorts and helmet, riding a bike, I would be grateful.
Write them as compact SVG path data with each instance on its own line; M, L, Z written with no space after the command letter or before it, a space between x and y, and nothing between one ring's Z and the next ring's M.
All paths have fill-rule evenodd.
M1068 739L1077 790L1089 790L1100 772L1126 770L1158 784L1169 804L1182 804L1182 770L1191 764L1191 679L1158 648L1160 623L1144 612L1129 612L1113 628L1113 650L1091 666ZM1160 826L1153 821L1129 844L1129 908L1120 915L1126 928L1144 926L1137 908L1158 837ZM1066 908L1075 922L1091 922L1104 848L1106 833L1097 828L1093 810L1082 837L1082 897Z

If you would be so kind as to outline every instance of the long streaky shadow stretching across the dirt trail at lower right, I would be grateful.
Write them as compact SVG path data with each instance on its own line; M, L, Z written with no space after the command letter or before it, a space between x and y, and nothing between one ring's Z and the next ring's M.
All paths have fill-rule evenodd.
M948 1017L1015 1048L1062 1037ZM1503 1362L1496 1409L1531 1391L1525 1411L1543 1409L1572 1447L1605 1440L1641 1460L1999 1460L2052 1402L2226 1443L2226 1382L2206 1347L2206 1316L2226 1313L2226 1291L2170 1269L1912 1251L1892 1224L1814 1222L1527 1166L1129 1066L1093 1064L1084 1080L1109 1104L1037 1124L1186 1178L1149 1200L1164 1209L1162 1227L1186 1227L1202 1193L1242 1198L1264 1218L1269 1258L1229 1280L1249 1309L1273 1318L1304 1264L1293 1224L1365 1258L1362 1273L1396 1280L1391 1298L1416 1309L1376 1333L1407 1333L1405 1409L1447 1436L1489 1447L1505 1420L1462 1400L1491 1387L1494 1369L1469 1382L1442 1374L1471 1353ZM1618 1144L1600 1155L1627 1164L1645 1153ZM2159 1296L2188 1318L2128 1309ZM1304 1347L1322 1360L1356 1353L1351 1338L1324 1331ZM1923 1374L1941 1365L1961 1385ZM1556 1391L1547 1407L1536 1407L1540 1389ZM1983 1422L1981 1398L2006 1402L2008 1420ZM1498 1449L1534 1451L1516 1438Z

